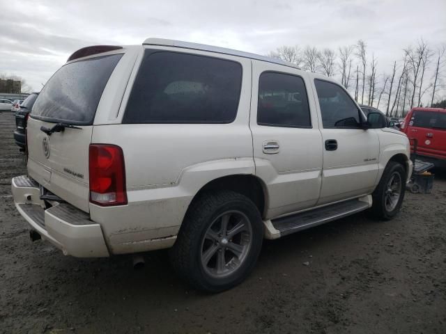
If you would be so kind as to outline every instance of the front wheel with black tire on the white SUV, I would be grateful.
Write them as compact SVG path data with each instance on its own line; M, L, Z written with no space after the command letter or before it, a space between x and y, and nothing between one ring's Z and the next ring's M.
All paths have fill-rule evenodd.
M385 221L394 218L401 209L405 191L406 170L401 164L389 161L378 186L372 193L372 214Z

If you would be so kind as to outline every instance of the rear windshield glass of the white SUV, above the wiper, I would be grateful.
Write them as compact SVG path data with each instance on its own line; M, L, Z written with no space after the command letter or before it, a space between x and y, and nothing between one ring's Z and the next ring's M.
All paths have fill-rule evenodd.
M40 92L31 115L49 122L93 123L102 91L122 54L63 65Z

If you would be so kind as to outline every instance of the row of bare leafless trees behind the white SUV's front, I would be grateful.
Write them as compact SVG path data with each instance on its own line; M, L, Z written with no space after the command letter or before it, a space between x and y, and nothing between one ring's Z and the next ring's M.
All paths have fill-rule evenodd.
M445 100L446 45L432 48L423 39L402 50L402 56L392 63L392 72L381 74L378 58L364 40L337 50L284 45L268 56L337 77L356 102L377 109L381 106L389 117L403 117L412 107L423 106L422 101L424 106L436 106Z

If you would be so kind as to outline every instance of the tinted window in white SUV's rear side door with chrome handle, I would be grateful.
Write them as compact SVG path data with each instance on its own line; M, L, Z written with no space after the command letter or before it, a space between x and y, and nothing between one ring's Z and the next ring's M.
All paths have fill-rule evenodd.
M311 127L307 90L302 78L264 72L259 79L257 124L276 127Z

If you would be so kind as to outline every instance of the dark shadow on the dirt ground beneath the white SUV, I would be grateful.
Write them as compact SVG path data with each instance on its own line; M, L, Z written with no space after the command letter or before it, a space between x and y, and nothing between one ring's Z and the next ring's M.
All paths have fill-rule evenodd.
M298 274L298 271L305 270L304 262L312 262L312 257L309 255L317 253L320 249L330 249L336 244L341 246L351 239L351 233L358 233L360 230L366 233L376 224L380 222L369 218L367 214L357 214L281 239L265 240L256 269L242 285L244 287L255 285L256 280L263 279L262 276L273 279L275 271L289 266L290 260L296 264L292 268L293 274ZM72 291L82 289L82 294L89 294L87 300L92 303L92 307L97 307L97 303L102 303L104 299L121 303L126 299L132 299L132 303L137 301L146 303L150 296L151 300L157 300L157 303L162 305L163 301L168 299L215 298L215 295L194 291L176 276L169 265L168 250L143 253L145 266L134 270L132 255L93 260L77 259L65 257L59 250L49 249L51 246L44 243L45 241L37 241L32 245L43 248L45 253L49 253L47 255L51 255L47 256L46 260L40 255L34 259L38 263L42 262L37 269L40 275L45 278L58 276L61 285L57 289L63 294L70 295ZM31 255L34 256L36 255ZM298 280L299 277L295 279ZM104 295L104 292L107 293ZM228 292L223 294L225 293ZM83 303L84 296L79 296L77 302ZM134 307L134 304L131 307Z

